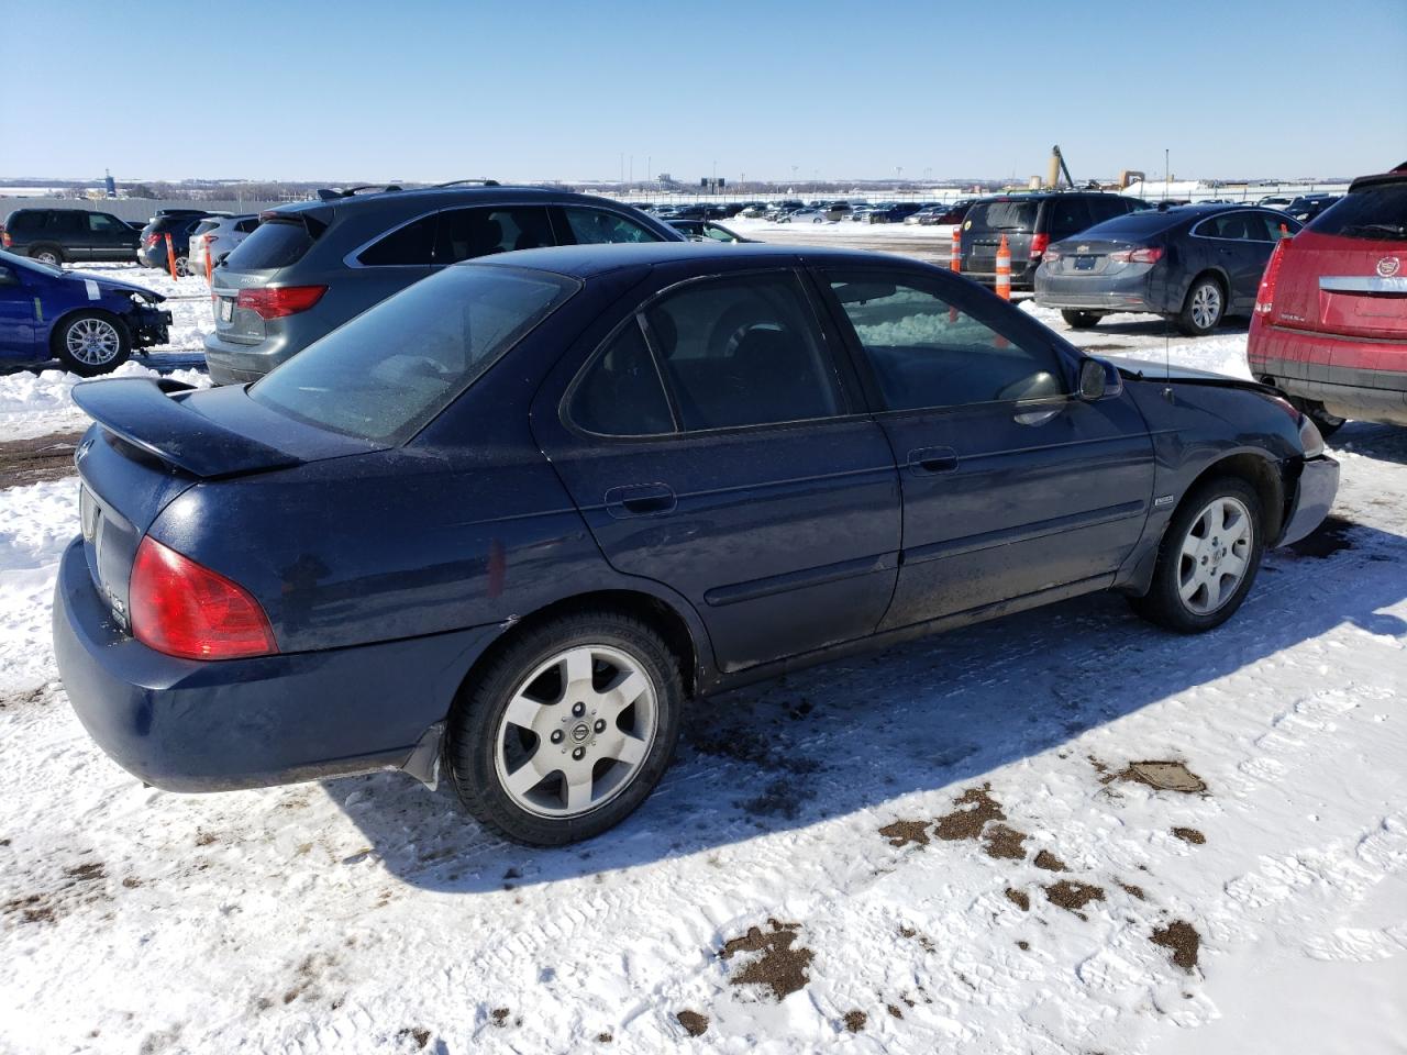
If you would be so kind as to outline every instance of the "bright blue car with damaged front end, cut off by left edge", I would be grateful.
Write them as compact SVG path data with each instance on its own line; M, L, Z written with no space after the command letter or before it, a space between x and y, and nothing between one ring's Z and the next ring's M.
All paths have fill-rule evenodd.
M141 286L0 250L0 363L58 359L82 377L106 374L136 347L165 345L165 297Z

